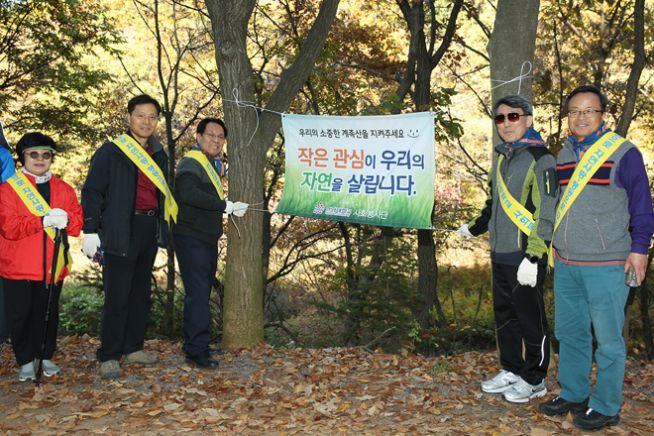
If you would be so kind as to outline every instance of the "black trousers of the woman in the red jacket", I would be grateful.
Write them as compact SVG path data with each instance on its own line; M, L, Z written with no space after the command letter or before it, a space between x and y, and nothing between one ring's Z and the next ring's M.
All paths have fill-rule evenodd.
M48 287L43 281L3 279L5 307L16 361L25 365L36 358L51 359L57 345L59 296L61 285L54 286L50 303L48 333L41 355L43 328L48 305Z

